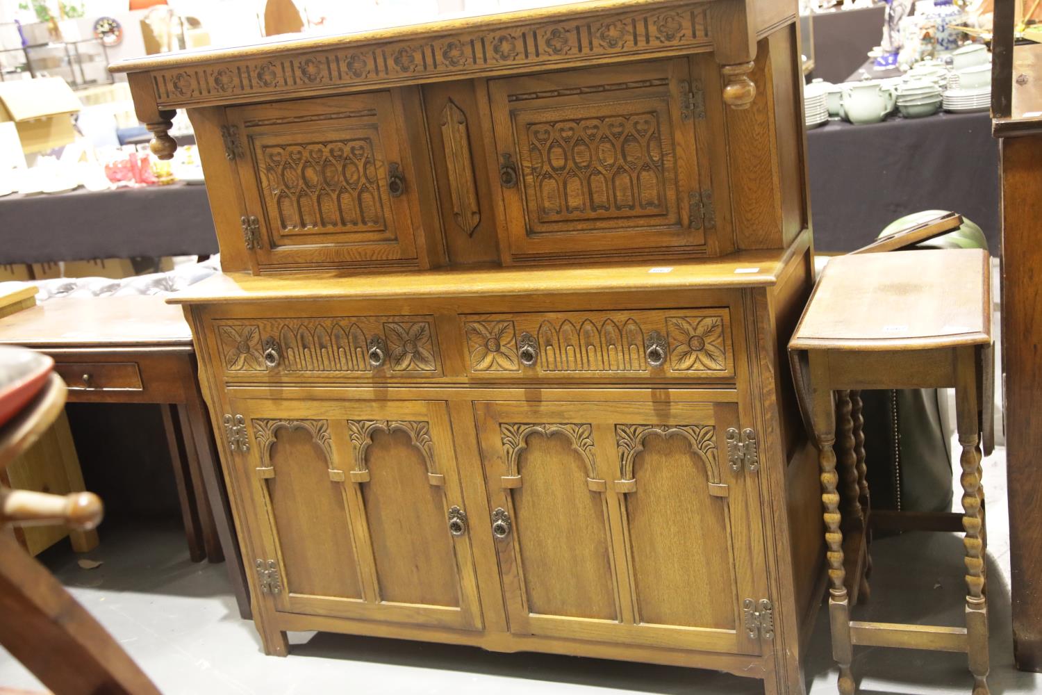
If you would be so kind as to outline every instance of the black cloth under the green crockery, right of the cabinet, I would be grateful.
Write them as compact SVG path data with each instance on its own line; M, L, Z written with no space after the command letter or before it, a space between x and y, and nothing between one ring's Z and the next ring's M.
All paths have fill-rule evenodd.
M987 113L833 120L807 133L807 149L816 250L852 251L903 215L949 209L999 252L998 148Z

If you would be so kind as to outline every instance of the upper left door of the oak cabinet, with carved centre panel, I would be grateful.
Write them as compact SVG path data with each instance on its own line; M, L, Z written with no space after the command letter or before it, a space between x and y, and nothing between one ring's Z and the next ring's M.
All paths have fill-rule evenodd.
M387 92L227 109L258 266L415 259L415 185ZM255 218L255 233L245 226Z

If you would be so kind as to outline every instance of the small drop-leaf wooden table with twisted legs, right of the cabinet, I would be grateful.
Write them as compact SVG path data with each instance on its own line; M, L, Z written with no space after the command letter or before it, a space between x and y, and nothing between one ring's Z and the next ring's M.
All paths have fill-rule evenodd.
M800 407L819 450L833 656L843 695L857 691L853 645L965 651L974 695L989 692L981 487L983 364L992 342L989 271L988 253L979 249L833 258L789 343ZM859 390L951 387L962 445L966 627L851 621L849 601L868 588L871 528ZM946 529L940 515L910 516L905 528Z

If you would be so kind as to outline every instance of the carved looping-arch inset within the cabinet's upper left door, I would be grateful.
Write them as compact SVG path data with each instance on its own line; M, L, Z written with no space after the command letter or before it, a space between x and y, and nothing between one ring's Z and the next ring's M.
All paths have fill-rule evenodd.
M265 206L280 231L386 228L370 139L262 145L258 160Z

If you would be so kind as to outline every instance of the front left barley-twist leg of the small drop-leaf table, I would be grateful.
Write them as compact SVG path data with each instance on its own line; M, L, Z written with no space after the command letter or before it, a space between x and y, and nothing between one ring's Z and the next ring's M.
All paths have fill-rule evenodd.
M827 356L810 354L811 409L815 439L818 443L818 463L821 467L821 503L824 507L825 557L828 562L828 622L833 639L833 659L839 666L838 688L841 695L853 695L857 684L850 664L853 662L853 642L850 637L850 605L846 590L846 571L843 569L843 531L840 526L840 495L837 490L839 474L836 471L836 406L828 383Z

